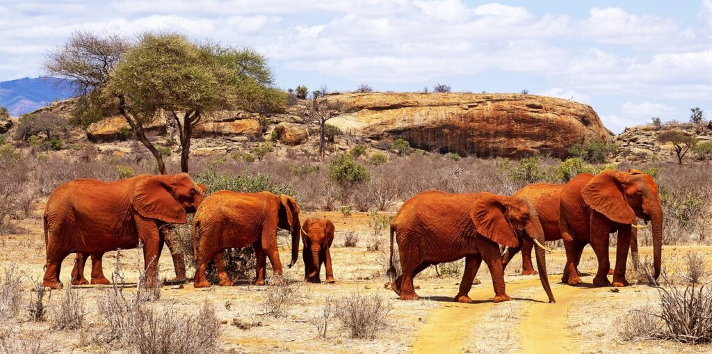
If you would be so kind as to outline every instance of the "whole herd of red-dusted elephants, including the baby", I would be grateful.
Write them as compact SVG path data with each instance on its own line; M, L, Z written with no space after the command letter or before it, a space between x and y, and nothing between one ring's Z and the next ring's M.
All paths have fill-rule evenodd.
M218 284L230 286L223 250L253 246L256 281L265 281L266 259L275 274L282 274L277 229L291 233L291 261L298 260L299 240L305 280L320 282L326 268L334 282L330 247L334 225L328 219L299 219L293 197L270 192L219 191L206 196L204 185L189 175L140 175L116 182L76 179L58 187L44 212L46 268L43 286L62 288L59 274L63 259L77 254L72 283L88 283L84 261L91 256L91 283L107 284L101 257L107 251L143 246L147 285L157 285L157 264L169 224L184 224L195 213L194 286L210 286L209 262L217 270ZM465 269L455 300L468 303L468 292L482 263L488 267L495 302L511 298L505 291L504 270L520 250L523 274L536 274L531 263L535 249L538 274L549 301L555 302L546 269L545 241L563 240L566 264L562 281L581 283L577 269L582 249L590 244L598 259L595 286L627 286L629 247L637 252L637 219L651 222L654 276L661 264L662 210L658 189L650 175L638 170L609 170L582 174L565 184L530 184L513 196L492 193L449 194L421 192L408 199L390 227L391 253L388 270L391 288L404 300L419 298L413 278L428 266L465 259ZM613 282L609 282L609 234L618 234ZM398 244L402 274L394 267L394 239ZM174 257L174 261L175 261ZM177 266L179 269L179 266ZM178 274L179 278L181 274Z

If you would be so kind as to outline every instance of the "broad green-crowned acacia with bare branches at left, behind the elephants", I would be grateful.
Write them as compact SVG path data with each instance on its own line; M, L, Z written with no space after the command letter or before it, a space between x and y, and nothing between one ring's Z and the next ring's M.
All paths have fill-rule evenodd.
M85 37L104 45L85 46L86 41L76 40ZM163 114L177 125L181 170L187 172L193 130L204 115L236 108L267 113L286 103L286 95L272 86L267 59L251 49L193 43L176 33L144 33L132 46L118 46L116 38L75 33L66 46L48 56L46 69L79 80L88 101L96 102L91 107L120 113L162 174L167 173L162 152L147 137L146 127ZM124 50L114 52L115 61L93 60L105 58L97 49L105 47ZM76 58L79 65L68 65L65 58Z

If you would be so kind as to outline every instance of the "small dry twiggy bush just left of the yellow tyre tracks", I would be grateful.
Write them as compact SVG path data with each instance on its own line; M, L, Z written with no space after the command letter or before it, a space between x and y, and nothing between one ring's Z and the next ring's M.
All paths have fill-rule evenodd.
M336 317L349 330L352 338L375 338L388 326L393 306L379 295L352 294L336 303Z

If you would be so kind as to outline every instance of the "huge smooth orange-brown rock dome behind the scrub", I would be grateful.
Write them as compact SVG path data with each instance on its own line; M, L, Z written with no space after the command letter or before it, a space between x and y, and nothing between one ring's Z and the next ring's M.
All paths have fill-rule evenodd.
M348 93L329 95L345 114L329 124L374 140L402 137L412 147L480 157L568 155L613 135L589 105L523 94Z

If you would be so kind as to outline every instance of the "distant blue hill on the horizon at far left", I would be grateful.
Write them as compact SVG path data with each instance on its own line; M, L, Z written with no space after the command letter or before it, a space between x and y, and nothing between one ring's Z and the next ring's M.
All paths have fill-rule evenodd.
M0 82L0 106L17 117L42 108L53 100L72 97L74 91L70 85L58 85L59 82L58 78L21 78Z

